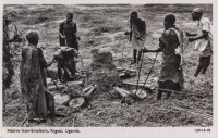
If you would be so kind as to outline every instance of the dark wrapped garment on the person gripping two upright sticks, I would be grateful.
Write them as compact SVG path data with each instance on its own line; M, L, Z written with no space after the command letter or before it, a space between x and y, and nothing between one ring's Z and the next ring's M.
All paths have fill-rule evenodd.
M169 90L181 90L183 88L183 73L180 67L181 55L175 54L175 49L180 46L179 36L175 29L166 29L161 37L159 47L164 48L160 76L158 79L158 88ZM165 90L158 90L158 99L161 99ZM170 97L171 91L167 91Z

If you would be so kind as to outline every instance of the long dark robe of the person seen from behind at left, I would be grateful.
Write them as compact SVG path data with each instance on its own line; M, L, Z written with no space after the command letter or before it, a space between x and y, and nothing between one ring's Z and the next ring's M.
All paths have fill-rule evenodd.
M45 117L47 114L45 87L40 70L39 49L28 45L22 48L21 92L27 106L27 118Z

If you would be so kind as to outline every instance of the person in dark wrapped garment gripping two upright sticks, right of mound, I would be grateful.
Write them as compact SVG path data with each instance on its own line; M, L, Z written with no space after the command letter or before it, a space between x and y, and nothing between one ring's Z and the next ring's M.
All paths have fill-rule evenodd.
M159 38L159 48L156 50L143 49L143 52L162 52L164 62L158 78L157 100L161 99L162 92L167 92L167 98L169 98L173 90L181 91L183 88L183 73L180 66L182 51L175 52L182 45L181 33L174 23L173 14L166 15L165 30Z

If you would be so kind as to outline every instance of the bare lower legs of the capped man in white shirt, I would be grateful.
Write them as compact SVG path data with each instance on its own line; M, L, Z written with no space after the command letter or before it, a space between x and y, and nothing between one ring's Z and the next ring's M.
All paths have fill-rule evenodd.
M197 76L199 74L199 72L202 72L202 74L205 74L207 68L209 67L210 64L210 59L211 55L209 57L199 57L199 63L196 70L196 73L194 76Z

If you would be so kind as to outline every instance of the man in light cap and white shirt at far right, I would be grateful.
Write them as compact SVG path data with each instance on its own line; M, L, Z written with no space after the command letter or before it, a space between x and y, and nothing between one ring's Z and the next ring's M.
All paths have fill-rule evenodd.
M197 33L191 34L186 33L187 36L193 36L189 38L189 41L195 42L195 50L201 51L199 63L194 74L195 77L202 72L205 74L209 64L210 58L213 55L213 34L211 34L211 22L209 18L203 16L203 10L201 8L195 8L192 11L192 20L198 21Z

